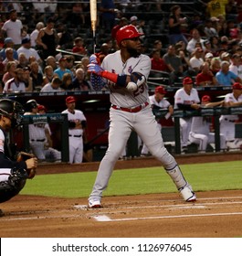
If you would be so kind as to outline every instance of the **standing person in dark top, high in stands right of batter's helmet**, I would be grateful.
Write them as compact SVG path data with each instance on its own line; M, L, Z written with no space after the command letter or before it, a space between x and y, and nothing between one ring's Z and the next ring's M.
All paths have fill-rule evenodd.
M187 39L181 32L181 25L187 23L187 18L181 14L181 6L174 5L171 7L171 14L168 19L169 40L171 45L175 45L179 41L187 44Z

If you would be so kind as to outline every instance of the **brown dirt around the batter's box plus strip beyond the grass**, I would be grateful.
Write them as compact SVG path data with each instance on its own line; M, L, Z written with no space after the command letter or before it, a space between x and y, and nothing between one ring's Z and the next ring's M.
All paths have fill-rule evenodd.
M177 156L179 164L241 160L239 154ZM71 165L96 171L99 163ZM160 165L153 158L119 161L115 169ZM39 174L69 172L69 165L41 165ZM87 198L17 196L1 204L1 237L182 238L242 237L242 191L197 192L195 203L178 193L104 197L100 209Z

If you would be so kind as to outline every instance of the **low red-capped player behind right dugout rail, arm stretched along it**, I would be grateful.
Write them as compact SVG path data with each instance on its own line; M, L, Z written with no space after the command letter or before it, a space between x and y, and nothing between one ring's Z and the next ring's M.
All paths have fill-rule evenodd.
M204 95L202 98L202 108L213 108L221 106L224 101L211 102L211 98L208 95ZM215 133L210 132L211 117L206 116L194 116L191 124L191 132L189 133L189 141L194 144L198 144L198 153L205 153L207 144L215 143ZM220 133L220 148L226 149L226 137Z

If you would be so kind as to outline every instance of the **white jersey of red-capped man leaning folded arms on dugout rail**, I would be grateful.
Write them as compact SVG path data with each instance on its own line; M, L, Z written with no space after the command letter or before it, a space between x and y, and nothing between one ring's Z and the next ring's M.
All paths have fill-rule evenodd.
M199 102L200 99L195 88L192 89L190 95L184 91L184 88L181 88L174 93L174 109L177 109L177 104L179 103L191 105Z

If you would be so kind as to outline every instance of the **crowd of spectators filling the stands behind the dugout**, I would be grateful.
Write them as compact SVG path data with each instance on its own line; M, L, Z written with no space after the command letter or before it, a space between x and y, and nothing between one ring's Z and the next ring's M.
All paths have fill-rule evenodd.
M181 1L181 5L170 3L169 10L168 1L165 0L151 1L150 4L142 2L100 1L97 30L103 31L104 37L97 48L102 57L116 50L117 30L132 24L144 32L145 36L141 37L142 50L152 59L151 77L167 76L169 86L179 85L184 76L192 77L196 86L231 86L234 81L241 81L242 1L195 1L194 7L197 9L193 13L187 12L185 5L182 5L184 1ZM199 7L205 12L200 13ZM14 65L9 66L8 62L15 62L16 69L29 70L29 78L24 81L26 91L41 91L54 77L62 80L65 73L71 74L72 81L67 86L65 77L60 90L92 90L82 63L82 59L88 62L92 53L92 42L87 40L91 34L89 1L75 4L57 0L39 3L2 1L0 8L0 75L5 78L0 91L4 91L6 78L13 80L16 77ZM167 41L149 34L149 19L140 18L143 8L151 11L150 19L153 12L161 13L163 24L166 24L161 31ZM79 30L73 33L73 27ZM79 31L85 28L87 37L80 37ZM65 50L70 54L64 53ZM53 70L48 67L51 66L47 63L48 59L56 62ZM222 69L227 66L224 61L228 63L227 70ZM207 66L215 78L203 75ZM77 80L76 69L83 69L84 78L83 84L79 80L78 87L77 83L73 87L73 81ZM199 83L196 83L197 80ZM8 88L4 92L7 91L13 90Z

